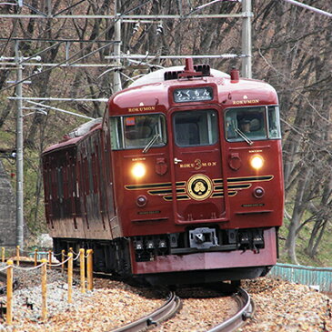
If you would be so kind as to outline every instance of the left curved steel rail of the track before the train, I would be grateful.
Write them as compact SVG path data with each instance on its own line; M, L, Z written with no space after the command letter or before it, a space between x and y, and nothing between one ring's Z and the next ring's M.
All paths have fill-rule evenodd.
M177 310L181 307L181 300L176 296L176 293L171 292L167 298L166 303L156 309L153 313L137 319L135 322L126 324L123 327L112 329L111 332L138 332L157 325L158 323L172 317L176 314Z

